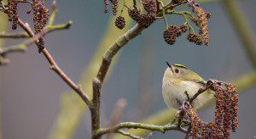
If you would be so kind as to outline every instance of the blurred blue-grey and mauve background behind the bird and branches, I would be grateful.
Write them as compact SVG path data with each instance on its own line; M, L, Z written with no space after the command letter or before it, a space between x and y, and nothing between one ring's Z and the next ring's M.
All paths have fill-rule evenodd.
M241 0L239 3L255 34L256 1ZM59 14L56 24L73 20L73 26L68 31L58 31L47 36L46 46L67 75L79 82L80 75L89 64L112 15L103 13L102 1L62 0L57 4ZM103 86L102 124L108 122L114 104L122 97L128 102L123 121L137 121L166 108L161 96L165 61L185 64L205 79L215 78L221 81L236 79L253 70L223 5L212 2L201 6L212 13L208 23L211 36L209 47L195 46L185 36L177 38L174 46L167 45L162 38L165 25L161 20L124 47L113 74ZM25 6L22 9L26 11L28 8ZM182 9L190 10L188 7ZM21 15L23 19L31 19L29 16ZM183 19L177 16L169 18L170 25L181 23ZM8 40L5 44L9 46L16 43L17 41ZM3 138L47 138L59 112L61 92L70 90L49 70L47 61L37 52L36 47L31 47L25 54L11 54L11 63L0 67ZM147 67L143 68L145 65ZM232 138L252 138L256 135L255 91L256 87L250 88L239 97L240 125ZM148 104L139 103L142 96L147 98L148 101L143 102ZM145 111L138 114L137 111L142 109L137 108ZM214 108L207 108L199 114L203 120L211 121L213 110ZM73 138L90 138L89 118L89 114L84 114ZM167 131L166 134L154 132L153 136L170 137L183 138L183 134Z

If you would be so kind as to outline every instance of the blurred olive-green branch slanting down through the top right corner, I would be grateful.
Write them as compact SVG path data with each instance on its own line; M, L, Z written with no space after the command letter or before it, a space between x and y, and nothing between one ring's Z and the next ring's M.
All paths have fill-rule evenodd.
M253 67L256 68L255 36L247 24L245 15L242 14L241 8L239 8L236 0L223 0L221 2L224 5L224 10L229 15L228 17L230 17L231 23L233 23L232 25L234 25L237 35L241 39L248 60L251 61Z

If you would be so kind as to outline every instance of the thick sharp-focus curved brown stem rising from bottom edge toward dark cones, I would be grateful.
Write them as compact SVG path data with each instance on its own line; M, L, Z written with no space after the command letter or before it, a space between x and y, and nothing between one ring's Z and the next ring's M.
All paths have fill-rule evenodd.
M97 72L96 78L93 81L93 97L92 104L93 108L90 108L90 113L92 117L92 135L93 138L100 138L101 136L95 136L96 131L100 130L100 101L101 101L101 86L104 79L108 73L109 66L113 60L113 57L119 52L119 50L125 46L132 38L138 36L143 31L144 27L141 25L135 25L131 30L126 31L126 33L113 43L113 46L109 47L107 52L103 55L102 64Z

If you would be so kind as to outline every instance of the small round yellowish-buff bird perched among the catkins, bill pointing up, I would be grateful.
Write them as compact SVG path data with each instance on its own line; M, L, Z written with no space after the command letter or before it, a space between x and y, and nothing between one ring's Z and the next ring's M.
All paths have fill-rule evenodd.
M193 97L207 81L182 64L166 64L168 67L163 77L162 94L169 108L179 109L183 102L188 100L185 92L189 97ZM196 97L192 105L195 109L200 108L212 97L213 93L208 89Z

